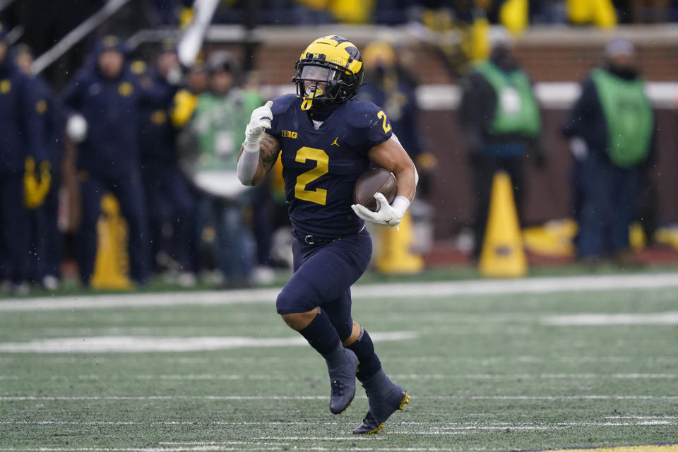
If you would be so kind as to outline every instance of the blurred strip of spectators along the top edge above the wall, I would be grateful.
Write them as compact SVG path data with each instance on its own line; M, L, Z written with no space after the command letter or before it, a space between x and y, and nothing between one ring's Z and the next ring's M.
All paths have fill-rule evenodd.
M191 3L190 0L149 0L145 7L153 25L177 25L182 20L182 11ZM261 24L396 25L418 18L422 11L446 8L464 20L484 13L492 23L499 23L503 8L525 8L529 23L564 24L585 22L588 20L584 17L586 10L605 8L607 3L622 23L678 20L678 1L675 0L223 0L215 22L246 23L256 10L256 17L251 20Z

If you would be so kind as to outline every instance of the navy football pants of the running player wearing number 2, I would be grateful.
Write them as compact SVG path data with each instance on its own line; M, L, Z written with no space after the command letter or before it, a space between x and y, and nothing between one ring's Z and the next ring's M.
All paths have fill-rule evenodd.
M321 307L339 338L351 335L351 285L364 273L372 254L367 230L325 244L292 242L295 274L275 303L278 314L293 314Z

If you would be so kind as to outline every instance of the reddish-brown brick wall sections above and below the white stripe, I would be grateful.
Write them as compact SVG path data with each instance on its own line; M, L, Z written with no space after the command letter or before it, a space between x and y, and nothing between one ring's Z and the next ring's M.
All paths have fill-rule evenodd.
M560 33L561 35L558 35ZM565 35L562 35L565 33ZM640 69L648 81L678 81L678 30L673 28L622 29L638 49ZM346 34L349 36L349 34ZM369 37L369 36L368 36ZM535 30L516 45L516 56L534 81L579 81L600 63L602 48L612 35L599 30ZM312 40L312 39L311 39ZM354 42L362 47L362 35ZM310 40L271 40L258 47L254 66L264 84L287 84L294 75L294 63ZM397 41L396 41L397 42ZM422 84L454 83L439 54L427 44L405 40L402 54ZM291 84L290 84L291 87ZM525 220L538 224L571 216L570 173L572 158L559 135L563 109L548 109L545 130L549 160L544 169L528 167ZM678 111L656 110L658 120L658 169L653 181L658 189L660 222L678 222ZM422 112L422 133L430 150L439 159L435 196L436 236L451 237L468 223L471 193L465 150L461 144L453 109Z

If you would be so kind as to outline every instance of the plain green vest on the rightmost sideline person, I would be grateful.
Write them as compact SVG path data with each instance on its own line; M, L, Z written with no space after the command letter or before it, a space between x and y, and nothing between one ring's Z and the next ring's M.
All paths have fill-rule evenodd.
M645 83L626 81L602 69L595 69L591 77L607 124L609 159L619 167L638 165L652 140L653 112Z

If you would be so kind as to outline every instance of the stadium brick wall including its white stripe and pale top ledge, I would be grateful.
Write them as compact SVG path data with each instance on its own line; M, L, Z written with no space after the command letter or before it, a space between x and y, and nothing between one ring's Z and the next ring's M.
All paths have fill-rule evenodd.
M270 95L291 92L294 61L314 37L332 32L350 37L362 47L374 39L388 39L400 49L403 64L419 78L422 107L420 129L429 150L438 157L434 207L436 236L451 237L468 224L471 214L470 180L456 120L458 89L453 74L435 44L422 42L408 28L338 27L338 30L280 28L258 30L254 67ZM516 43L516 56L535 81L545 108L549 160L545 168L527 168L525 222L540 224L571 217L572 157L560 136L561 122L578 93L578 82L602 57L602 47L613 37L626 37L638 49L638 63L650 85L658 125L657 189L660 224L678 222L678 28L671 25L620 26L613 32L595 28L530 28ZM239 52L237 47L234 50ZM444 194L444 195L443 195Z

